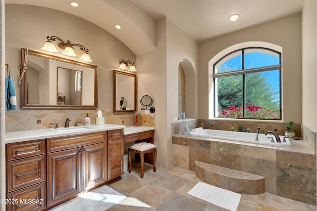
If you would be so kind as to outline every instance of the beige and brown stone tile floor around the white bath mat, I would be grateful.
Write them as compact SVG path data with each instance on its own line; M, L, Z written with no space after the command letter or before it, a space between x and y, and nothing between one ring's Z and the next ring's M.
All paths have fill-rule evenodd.
M158 167L153 172L150 165L141 179L140 164L134 162L132 172L125 172L121 179L51 211L226 211L187 194L199 181L194 171ZM241 195L237 211L317 211L315 206L269 193Z

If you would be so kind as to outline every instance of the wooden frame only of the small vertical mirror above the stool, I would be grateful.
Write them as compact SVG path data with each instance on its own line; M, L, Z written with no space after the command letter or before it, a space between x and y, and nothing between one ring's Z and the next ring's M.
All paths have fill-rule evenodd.
M131 76L134 77L134 109L132 110L117 110L116 109L116 102L117 100L119 100L120 98L117 99L116 97L116 92L117 92L117 75L116 74L122 74L125 76ZM118 70L113 70L113 114L134 114L137 111L137 96L138 96L138 77L136 74L132 74L132 73L127 73L127 72L122 72L122 71L118 71ZM127 87L127 88L132 88L132 87Z

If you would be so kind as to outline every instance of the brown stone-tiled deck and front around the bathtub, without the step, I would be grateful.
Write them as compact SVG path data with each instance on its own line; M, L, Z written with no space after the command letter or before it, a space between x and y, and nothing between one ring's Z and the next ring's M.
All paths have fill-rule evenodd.
M266 192L316 206L316 155L303 141L274 149L256 144L173 135L173 165L195 170L195 161L265 177Z

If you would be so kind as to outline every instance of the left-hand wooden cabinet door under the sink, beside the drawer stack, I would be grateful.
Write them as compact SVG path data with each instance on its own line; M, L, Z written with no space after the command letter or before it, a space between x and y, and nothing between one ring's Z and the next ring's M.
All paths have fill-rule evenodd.
M48 206L81 192L81 148L49 153Z

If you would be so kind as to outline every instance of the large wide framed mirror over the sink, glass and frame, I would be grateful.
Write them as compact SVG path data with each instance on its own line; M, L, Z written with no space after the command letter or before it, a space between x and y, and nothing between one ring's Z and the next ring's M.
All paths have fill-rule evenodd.
M24 64L26 49L21 49ZM27 51L21 84L22 109L96 109L98 67L42 52Z

